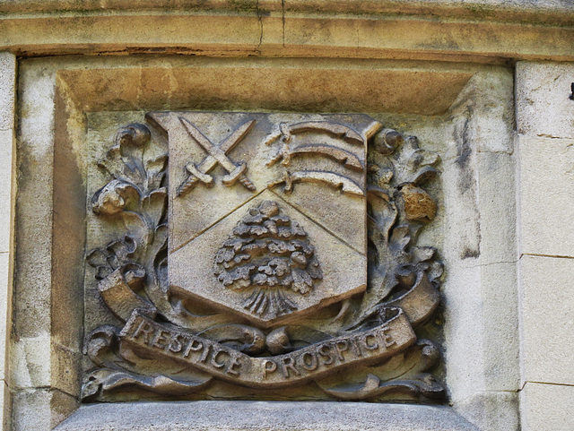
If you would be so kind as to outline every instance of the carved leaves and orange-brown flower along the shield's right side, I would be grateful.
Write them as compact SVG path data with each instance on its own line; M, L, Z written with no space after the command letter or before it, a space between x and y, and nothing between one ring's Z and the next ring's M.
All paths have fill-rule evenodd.
M438 287L437 250L416 246L416 239L437 211L423 187L438 176L439 156L420 149L416 137L389 129L374 136L369 156L370 294L386 297L397 286L412 286L420 271Z

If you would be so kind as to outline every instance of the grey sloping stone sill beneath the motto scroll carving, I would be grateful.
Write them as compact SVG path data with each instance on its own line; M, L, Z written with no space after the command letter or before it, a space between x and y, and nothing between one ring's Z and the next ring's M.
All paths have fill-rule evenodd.
M183 431L214 426L226 431L330 431L333 427L341 431L478 431L445 407L303 401L100 404L82 407L56 431Z

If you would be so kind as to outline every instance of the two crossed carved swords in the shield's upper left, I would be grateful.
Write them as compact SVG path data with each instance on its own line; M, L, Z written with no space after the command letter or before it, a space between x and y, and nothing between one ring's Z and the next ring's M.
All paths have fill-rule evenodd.
M251 130L255 124L255 120L249 120L239 125L227 138L225 138L219 145L211 142L204 134L202 134L195 125L192 125L187 119L182 116L179 121L186 128L189 134L196 142L207 152L207 157L196 166L195 163L187 163L187 179L178 186L178 196L186 194L192 190L197 183L202 182L204 185L212 186L213 177L209 172L218 164L222 165L228 174L222 177L222 183L230 186L234 185L237 181L248 190L255 192L256 187L251 180L245 175L248 165L245 162L234 163L227 156L231 151Z

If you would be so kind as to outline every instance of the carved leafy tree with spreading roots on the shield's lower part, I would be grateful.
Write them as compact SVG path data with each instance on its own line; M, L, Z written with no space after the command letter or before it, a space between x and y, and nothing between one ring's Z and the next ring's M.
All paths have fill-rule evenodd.
M323 274L305 229L272 201L240 220L214 258L213 272L228 289L253 288L244 306L252 313L283 315L297 306L285 295L305 295Z

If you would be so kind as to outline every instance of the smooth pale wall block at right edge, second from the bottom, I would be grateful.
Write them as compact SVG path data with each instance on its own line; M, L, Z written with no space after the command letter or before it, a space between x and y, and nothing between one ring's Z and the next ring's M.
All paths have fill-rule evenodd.
M522 378L574 384L574 260L524 256L519 274Z

